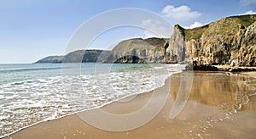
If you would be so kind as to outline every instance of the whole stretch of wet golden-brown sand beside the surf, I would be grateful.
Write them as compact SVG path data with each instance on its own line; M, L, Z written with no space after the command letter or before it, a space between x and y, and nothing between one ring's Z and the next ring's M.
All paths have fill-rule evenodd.
M152 92L42 122L5 138L256 138L255 75L255 72L248 75L183 72L172 75L165 86ZM171 109L181 110L174 119L170 119ZM111 116L100 116L99 110L112 118L116 115L126 117L123 121L118 117L111 119ZM141 111L146 115L139 114ZM150 120L154 113L156 115ZM146 122L140 124L142 120ZM131 130L116 131L116 127Z

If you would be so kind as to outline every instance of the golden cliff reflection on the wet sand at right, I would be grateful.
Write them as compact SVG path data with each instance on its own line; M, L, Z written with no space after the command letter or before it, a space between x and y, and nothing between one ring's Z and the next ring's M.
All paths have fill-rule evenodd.
M253 80L245 75L230 75L230 73L194 72L193 86L189 101L216 106L225 110L240 109L249 102L249 97L256 92L255 86L248 86ZM174 100L180 86L180 77L172 76L171 94ZM255 79L254 79L255 80ZM254 111L256 114L256 111Z

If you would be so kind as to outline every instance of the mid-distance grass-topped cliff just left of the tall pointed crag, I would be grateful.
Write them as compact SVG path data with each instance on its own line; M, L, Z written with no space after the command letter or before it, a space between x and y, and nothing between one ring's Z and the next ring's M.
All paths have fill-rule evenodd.
M164 63L167 39L130 39L119 42L108 58L110 63Z

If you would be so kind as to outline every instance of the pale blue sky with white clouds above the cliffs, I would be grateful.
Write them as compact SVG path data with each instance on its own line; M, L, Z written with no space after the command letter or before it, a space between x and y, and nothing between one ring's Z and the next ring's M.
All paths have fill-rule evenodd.
M134 10L116 14L122 8ZM75 49L111 49L134 37L167 38L175 24L194 28L239 14L256 14L256 0L0 0L0 64L33 63ZM84 46L68 49L78 34Z

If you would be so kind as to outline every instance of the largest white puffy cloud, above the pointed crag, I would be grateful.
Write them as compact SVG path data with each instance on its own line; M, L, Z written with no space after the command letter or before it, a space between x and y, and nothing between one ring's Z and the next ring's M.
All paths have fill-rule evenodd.
M162 9L161 13L164 14L164 16L167 18L178 20L189 20L201 16L199 12L192 11L191 8L185 5L180 7L166 5L166 7Z

